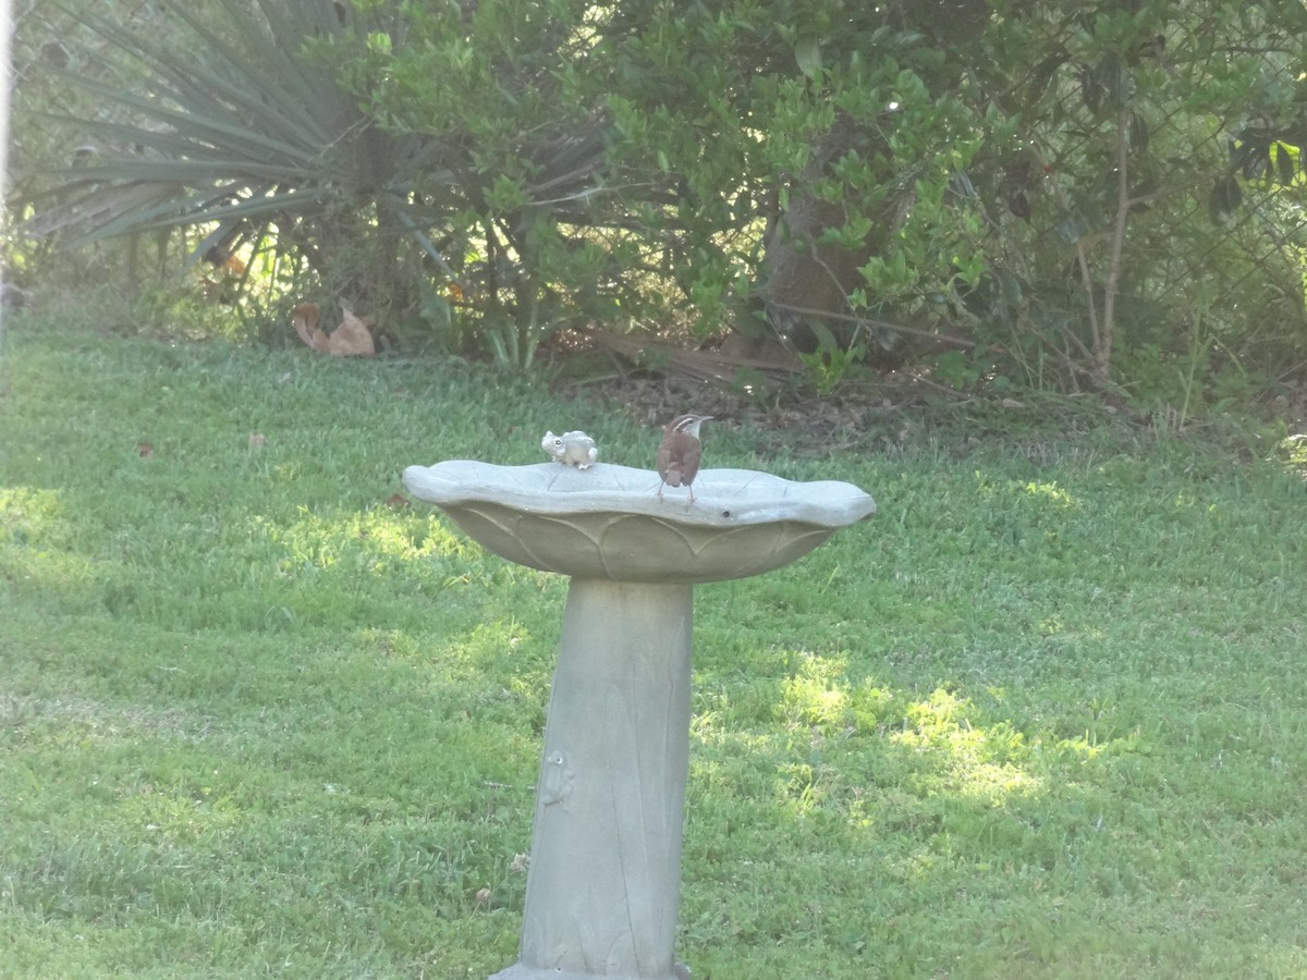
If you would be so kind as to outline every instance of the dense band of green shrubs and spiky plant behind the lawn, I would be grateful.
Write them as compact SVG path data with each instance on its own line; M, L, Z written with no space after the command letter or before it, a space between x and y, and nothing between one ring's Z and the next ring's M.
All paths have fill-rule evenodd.
M127 7L18 18L20 116L71 133L18 122L31 231L193 229L519 366L563 328L731 332L825 384L1192 405L1307 346L1293 0Z

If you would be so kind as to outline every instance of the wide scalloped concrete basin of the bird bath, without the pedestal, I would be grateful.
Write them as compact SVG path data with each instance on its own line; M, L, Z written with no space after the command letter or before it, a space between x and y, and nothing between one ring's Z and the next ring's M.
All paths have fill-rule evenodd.
M576 470L455 460L409 466L404 485L508 561L620 581L759 575L876 510L851 483L738 469L702 470L693 506L670 489L659 499L652 470L608 464Z

